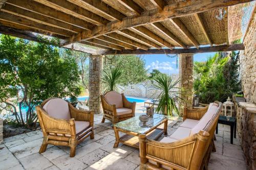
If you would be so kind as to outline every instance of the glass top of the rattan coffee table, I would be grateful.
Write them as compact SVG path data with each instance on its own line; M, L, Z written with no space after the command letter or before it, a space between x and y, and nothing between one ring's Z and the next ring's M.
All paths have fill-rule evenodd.
M150 118L148 120L146 125L143 125L142 122L139 120L139 116L135 116L132 118L129 118L127 120L123 120L122 122L119 122L114 125L114 127L144 134L146 131L150 130L152 127L157 126L160 122L162 122L165 119L165 115L162 114L154 114L153 118Z

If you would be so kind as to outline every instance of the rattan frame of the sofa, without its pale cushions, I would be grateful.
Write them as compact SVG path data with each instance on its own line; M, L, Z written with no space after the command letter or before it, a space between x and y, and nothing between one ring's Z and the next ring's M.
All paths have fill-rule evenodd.
M140 135L140 169L163 170L165 169L163 165L169 169L179 170L208 169L208 161L214 144L214 132L222 109L222 103L218 102L218 104L217 114L210 120L210 123L199 133L187 138L163 143ZM191 110L187 111L190 114L187 114L186 118L201 118L203 116L202 110L194 113ZM150 163L148 160L155 161L156 164Z

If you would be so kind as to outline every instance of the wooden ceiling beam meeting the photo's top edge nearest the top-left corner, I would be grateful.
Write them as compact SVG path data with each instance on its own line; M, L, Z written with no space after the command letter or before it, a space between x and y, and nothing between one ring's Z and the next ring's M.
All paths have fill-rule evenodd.
M81 29L86 29L86 30L92 30L93 25L92 24L88 24L88 22L76 18L72 15L60 12L60 11L56 11L53 8L50 8L48 6L42 5L40 3L36 3L30 0L8 0L8 2L6 4L10 4L19 8L23 8L25 10L31 11L31 12L35 12L38 13L42 16L47 16L59 21L63 21L66 23L69 23L73 26L76 26L78 28Z

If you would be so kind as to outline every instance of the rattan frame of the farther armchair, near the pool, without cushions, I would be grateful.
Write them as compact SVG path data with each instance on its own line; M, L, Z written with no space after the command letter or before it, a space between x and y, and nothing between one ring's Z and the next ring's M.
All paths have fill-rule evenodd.
M112 91L109 91L112 92ZM109 93L107 92L107 93ZM105 93L104 95L106 95L107 93ZM126 120L129 118L132 118L135 116L135 108L136 108L136 102L129 102L123 93L121 93L122 95L122 101L123 101L123 107L124 108L129 108L132 109L132 113L130 114L123 114L123 115L117 115L116 112L116 105L110 105L108 104L108 102L106 102L104 95L100 95L100 99L101 99L101 104L102 104L102 109L103 109L103 117L102 117L102 121L101 123L105 122L105 119L110 120L113 125L122 121L122 120Z

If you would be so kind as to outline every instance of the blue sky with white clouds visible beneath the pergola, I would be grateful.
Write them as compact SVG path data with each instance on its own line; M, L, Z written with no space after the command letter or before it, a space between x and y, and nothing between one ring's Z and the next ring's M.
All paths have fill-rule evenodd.
M206 61L209 56L213 56L215 53L198 53L194 55L195 61ZM175 56L175 55L169 55ZM152 69L158 69L159 71L166 74L178 74L179 66L176 68L176 57L170 58L165 54L148 54L144 55L144 60L146 62L145 66L148 69L148 72L151 72ZM179 63L179 61L178 61Z

